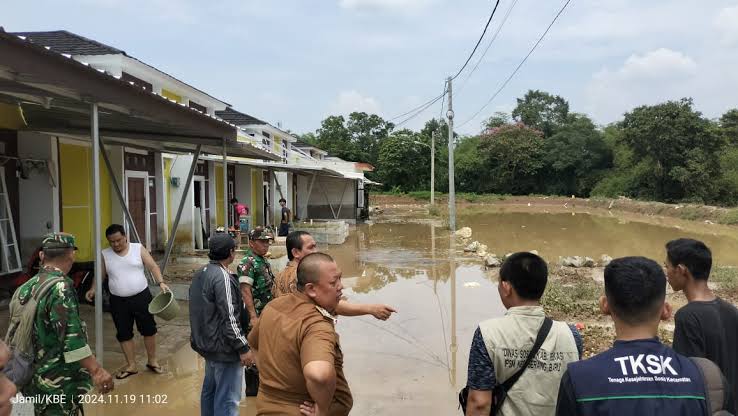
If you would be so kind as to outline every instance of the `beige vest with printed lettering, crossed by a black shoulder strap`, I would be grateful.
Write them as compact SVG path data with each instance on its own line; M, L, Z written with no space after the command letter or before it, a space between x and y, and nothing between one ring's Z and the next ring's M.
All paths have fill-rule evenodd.
M502 318L479 324L497 384L525 363L544 317L541 306L519 306L510 308ZM567 364L577 360L579 352L571 329L563 322L554 321L538 354L507 393L500 414L553 416L561 376Z

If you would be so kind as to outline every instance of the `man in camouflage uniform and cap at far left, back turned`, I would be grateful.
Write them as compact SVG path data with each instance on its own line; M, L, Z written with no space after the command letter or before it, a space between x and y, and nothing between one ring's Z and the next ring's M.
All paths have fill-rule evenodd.
M77 415L82 409L80 396L93 384L103 394L114 387L113 378L98 364L87 344L77 293L67 276L74 264L76 249L71 234L45 235L41 255L43 266L36 276L18 288L20 298L28 299L47 279L64 279L39 299L36 309L33 325L35 372L23 393L36 397L34 410L37 415ZM63 399L53 400L62 395Z

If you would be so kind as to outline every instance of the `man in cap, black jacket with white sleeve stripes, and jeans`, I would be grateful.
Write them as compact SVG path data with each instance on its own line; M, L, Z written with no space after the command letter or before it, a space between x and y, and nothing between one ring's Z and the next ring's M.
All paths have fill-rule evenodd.
M190 345L205 358L200 414L236 416L243 366L254 364L241 330L238 281L228 270L236 257L236 242L219 233L210 237L208 247L210 263L195 274L190 286Z

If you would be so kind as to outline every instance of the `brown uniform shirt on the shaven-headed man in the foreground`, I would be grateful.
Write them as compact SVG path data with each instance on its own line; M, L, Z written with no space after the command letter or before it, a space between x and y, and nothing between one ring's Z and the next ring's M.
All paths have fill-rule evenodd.
M353 399L343 375L343 353L330 316L321 313L303 293L269 302L248 341L257 352L259 415L299 415L300 404L312 401L302 369L311 361L327 361L336 368L336 392L328 414L345 416Z

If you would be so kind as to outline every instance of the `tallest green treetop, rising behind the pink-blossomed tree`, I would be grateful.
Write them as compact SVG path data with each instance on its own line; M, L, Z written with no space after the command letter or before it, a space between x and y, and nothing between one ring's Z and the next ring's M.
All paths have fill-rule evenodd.
M544 137L551 137L569 116L569 103L558 95L528 90L525 97L517 101L518 105L512 112L513 118L542 131Z

